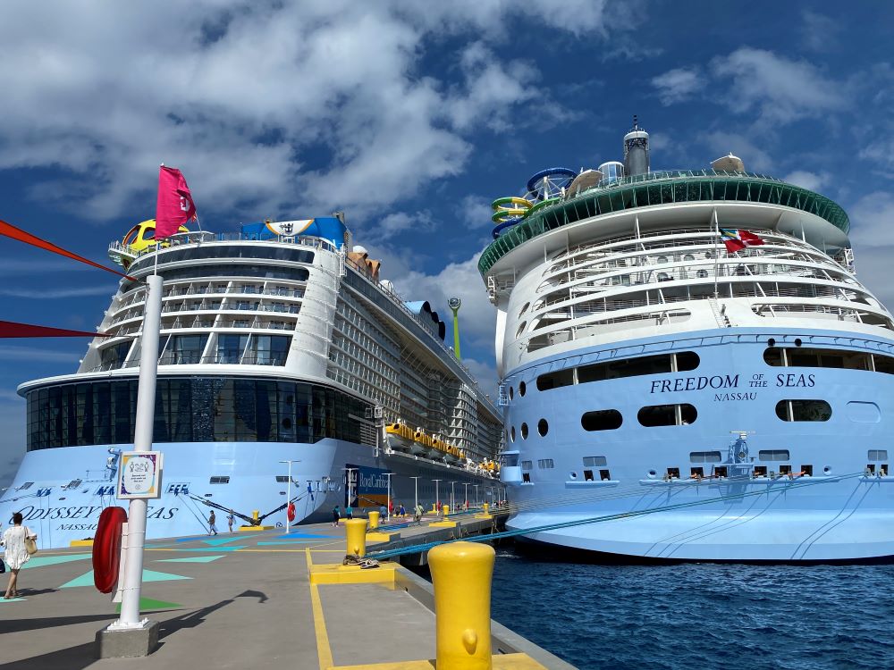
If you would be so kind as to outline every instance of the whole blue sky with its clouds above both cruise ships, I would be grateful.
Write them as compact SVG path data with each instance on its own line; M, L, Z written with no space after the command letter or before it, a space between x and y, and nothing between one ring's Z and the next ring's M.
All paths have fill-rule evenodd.
M877 2L7 4L0 218L104 261L154 215L159 163L207 230L344 210L408 298L463 298L463 354L493 385L477 275L489 203L537 170L619 159L746 169L851 215L887 304L894 4ZM92 330L114 276L0 239L4 320ZM80 339L0 340L0 487L24 451L21 381L73 372Z

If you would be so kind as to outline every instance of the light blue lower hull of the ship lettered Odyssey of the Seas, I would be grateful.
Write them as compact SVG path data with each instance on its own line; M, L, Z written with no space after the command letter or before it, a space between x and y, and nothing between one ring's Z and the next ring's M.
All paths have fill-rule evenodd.
M97 445L30 451L0 500L0 519L7 523L13 512L21 512L24 523L38 533L41 549L92 539L105 507L127 507L126 501L114 498L115 471L105 468L109 448L131 447ZM207 518L213 507L202 500L249 518L254 510L264 517L282 507L288 495L288 471L280 461L289 459L296 461L291 470L295 524L331 520L336 505L343 511L348 502L345 468L351 469L350 492L355 509L377 509L386 504L388 472L393 473L392 503L402 503L408 511L416 494L411 475L420 477L418 499L426 507L434 500L433 479L441 480L443 500L450 499L451 482L456 482L454 490L458 494L466 490L462 483L478 484L482 495L488 486L498 483L414 456L384 452L376 456L373 448L342 440L313 444L180 442L155 448L164 452L163 493L148 501L148 539L207 534ZM226 532L227 513L215 508L215 515L218 532ZM285 509L266 516L262 523L285 526ZM237 517L234 530L246 524Z

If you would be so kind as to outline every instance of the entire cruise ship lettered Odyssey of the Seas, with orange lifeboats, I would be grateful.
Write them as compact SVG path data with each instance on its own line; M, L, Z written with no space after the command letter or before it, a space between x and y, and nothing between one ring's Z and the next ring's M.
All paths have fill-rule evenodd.
M29 381L27 453L0 499L41 547L91 538L132 449L143 279L164 279L149 538L319 522L333 507L497 495L497 407L425 301L406 302L352 247L342 214L181 231L154 221L109 247L127 269L75 373ZM409 435L409 440L404 437ZM291 461L291 482L290 465ZM480 490L479 490L480 487Z

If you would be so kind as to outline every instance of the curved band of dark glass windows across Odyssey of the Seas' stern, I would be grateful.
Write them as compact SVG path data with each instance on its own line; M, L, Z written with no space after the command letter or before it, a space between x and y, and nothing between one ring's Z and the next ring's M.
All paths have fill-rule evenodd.
M137 378L28 392L28 450L132 444ZM316 384L227 376L159 377L153 441L361 443L372 406ZM365 443L365 442L364 442ZM173 447L176 448L176 447ZM100 465L101 467L101 465Z

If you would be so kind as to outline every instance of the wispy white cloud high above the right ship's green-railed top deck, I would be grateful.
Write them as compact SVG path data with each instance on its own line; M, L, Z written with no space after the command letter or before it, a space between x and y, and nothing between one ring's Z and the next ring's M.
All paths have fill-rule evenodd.
M730 83L723 101L735 113L756 110L768 123L790 123L840 109L847 103L844 85L805 61L772 51L743 47L713 59L716 80Z

